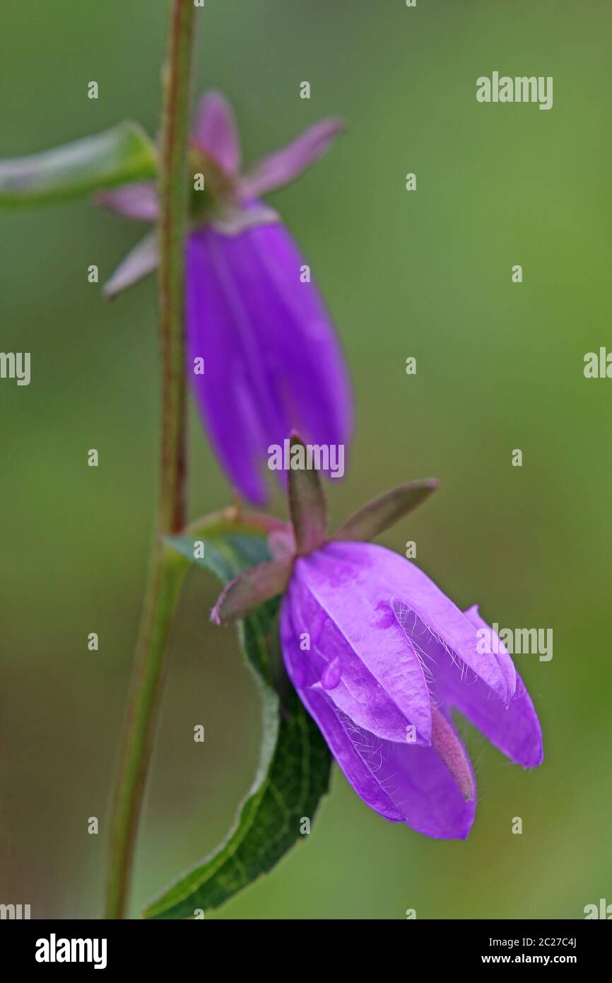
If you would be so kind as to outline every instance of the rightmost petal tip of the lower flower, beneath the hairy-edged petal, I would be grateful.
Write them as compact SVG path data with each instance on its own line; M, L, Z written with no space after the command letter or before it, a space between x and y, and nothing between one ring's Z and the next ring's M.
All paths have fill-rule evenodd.
M488 628L474 608L466 614L475 627ZM439 699L467 717L491 744L518 765L524 768L540 765L543 760L542 731L525 683L518 673L516 691L506 708L481 679L472 673L462 673L441 647L438 647L436 657Z

